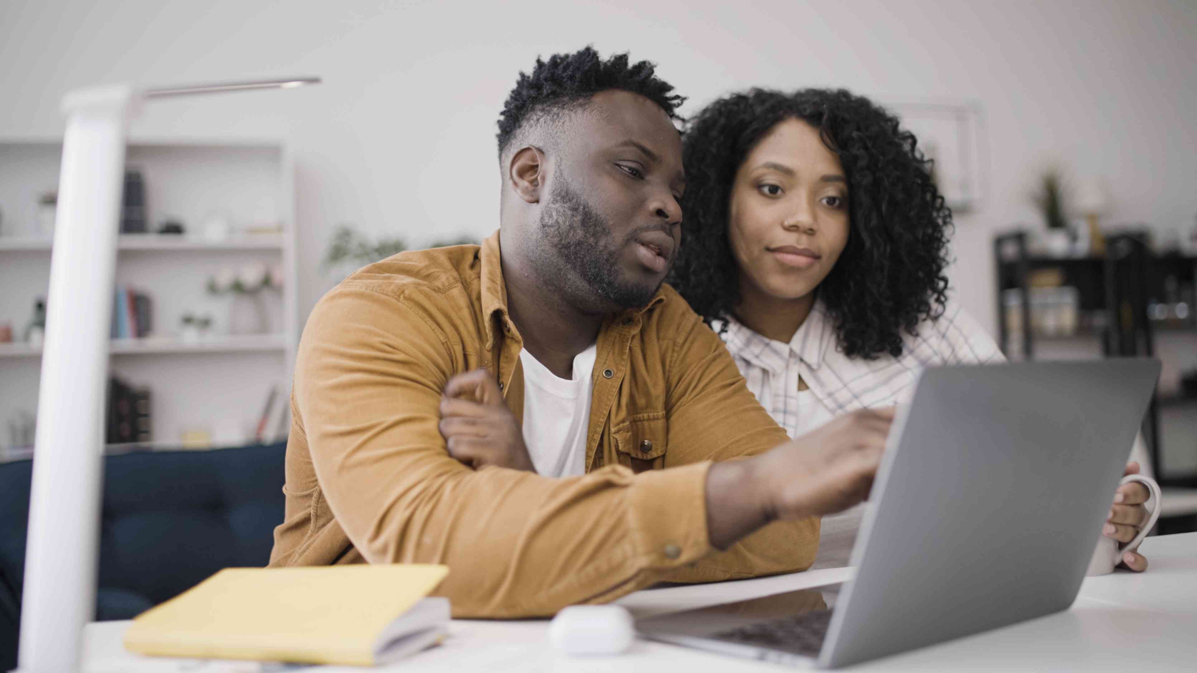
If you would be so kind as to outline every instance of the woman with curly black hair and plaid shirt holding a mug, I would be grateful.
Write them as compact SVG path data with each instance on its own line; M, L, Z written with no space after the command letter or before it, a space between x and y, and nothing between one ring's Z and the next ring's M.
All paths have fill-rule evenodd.
M952 211L886 110L844 90L754 89L691 120L682 159L669 283L791 437L905 401L924 366L1003 360L948 301ZM1125 542L1147 492L1129 484L1119 496L1105 534ZM824 517L814 568L847 565L862 509ZM1147 560L1126 552L1124 565Z

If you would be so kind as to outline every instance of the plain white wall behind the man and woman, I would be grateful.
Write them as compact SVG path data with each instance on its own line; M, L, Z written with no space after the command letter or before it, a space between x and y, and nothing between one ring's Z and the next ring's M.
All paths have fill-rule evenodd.
M412 244L497 226L494 121L537 54L630 49L691 96L683 113L749 85L974 99L986 115L989 198L958 219L950 273L992 327L991 235L1033 220L1026 193L1043 164L1106 178L1113 220L1192 224L1195 35L1197 4L1185 0L6 0L0 135L60 133L62 92L90 83L322 75L311 89L156 103L135 126L291 139L306 315L338 223Z

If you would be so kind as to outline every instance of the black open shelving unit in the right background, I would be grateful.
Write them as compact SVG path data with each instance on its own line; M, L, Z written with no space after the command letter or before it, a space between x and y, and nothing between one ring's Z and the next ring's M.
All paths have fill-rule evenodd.
M1161 533L1197 529L1197 395L1183 388L1181 376L1197 369L1197 316L1191 310L1168 321L1149 317L1153 301L1166 299L1165 279L1177 279L1177 289L1197 281L1197 256L1154 254L1142 236L1107 238L1107 255L1051 257L1031 254L1025 232L999 235L994 241L997 269L999 345L1008 357L1021 359L1071 359L1149 356L1162 364L1160 383L1144 419L1143 437L1165 493ZM1078 321L1067 335L1045 335L1029 316L1029 278L1052 269L1063 285L1077 289L1078 313L1102 320ZM1003 291L1017 291L1021 301L1011 316ZM1175 292L1183 303L1191 299ZM1191 307L1187 307L1191 308ZM1015 320L1011 320L1014 317ZM1014 323L1014 325L1011 325Z

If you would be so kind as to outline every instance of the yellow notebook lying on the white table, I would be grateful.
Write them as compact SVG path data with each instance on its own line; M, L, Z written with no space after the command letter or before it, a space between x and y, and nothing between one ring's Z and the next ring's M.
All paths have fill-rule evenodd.
M444 565L230 568L151 608L124 647L153 656L387 663L440 641Z

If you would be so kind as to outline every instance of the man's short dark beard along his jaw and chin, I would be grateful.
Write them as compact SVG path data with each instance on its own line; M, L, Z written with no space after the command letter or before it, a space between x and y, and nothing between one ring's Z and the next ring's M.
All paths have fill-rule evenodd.
M639 308L661 287L661 283L650 286L620 278L620 255L636 232L616 242L610 222L561 175L540 213L537 229L542 236L536 254L540 280L558 287L583 310L606 311L610 304L619 309Z

